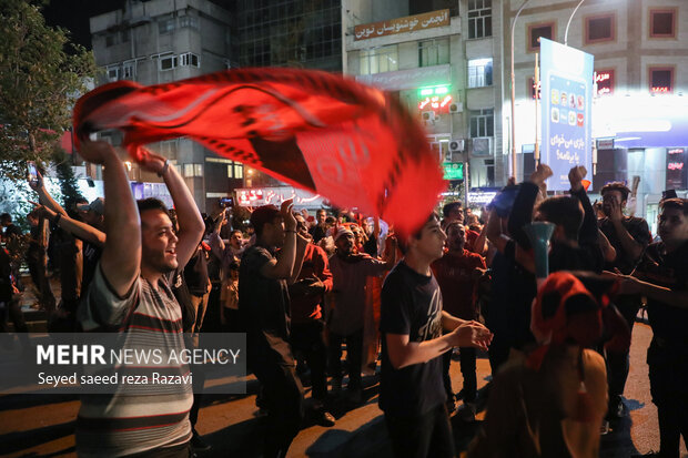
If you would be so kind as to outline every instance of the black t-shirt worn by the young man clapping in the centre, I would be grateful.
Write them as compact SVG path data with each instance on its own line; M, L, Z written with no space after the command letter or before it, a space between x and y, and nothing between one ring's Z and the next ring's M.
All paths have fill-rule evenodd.
M395 369L385 335L407 334L409 342L442 336L442 293L434 276L421 275L404 262L387 275L382 288L382 376L380 408L398 417L417 417L446 400L442 357Z

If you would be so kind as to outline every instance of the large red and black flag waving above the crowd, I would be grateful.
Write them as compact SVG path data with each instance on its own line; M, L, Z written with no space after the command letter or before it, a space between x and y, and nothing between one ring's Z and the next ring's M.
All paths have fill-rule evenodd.
M439 157L393 95L320 71L242 69L151 86L119 81L77 102L74 129L78 138L122 130L134 160L142 144L189 136L406 233L445 189Z

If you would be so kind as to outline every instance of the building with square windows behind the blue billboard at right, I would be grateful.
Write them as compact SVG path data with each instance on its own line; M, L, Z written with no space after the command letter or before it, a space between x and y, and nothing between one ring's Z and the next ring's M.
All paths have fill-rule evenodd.
M515 28L516 151L519 177L534 167L536 110L533 85L537 39L565 42L578 1L532 0ZM510 24L522 0L504 0L504 39L508 86ZM593 196L610 181L634 177L635 213L655 227L657 204L668 189L686 195L688 151L688 2L682 0L586 0L570 21L568 45L595 57L593 100ZM504 91L502 122L509 122ZM504 130L503 142L508 142ZM654 232L656 233L656 231Z

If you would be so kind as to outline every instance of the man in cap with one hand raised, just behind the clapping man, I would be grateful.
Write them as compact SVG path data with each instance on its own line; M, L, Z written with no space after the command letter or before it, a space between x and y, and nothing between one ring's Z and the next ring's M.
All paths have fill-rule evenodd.
M396 263L396 238L387 237L386 261L376 259L354 251L354 233L340 226L334 244L336 252L330 257L333 277L333 304L327 318L330 329L330 370L332 387L342 388L342 342L346 340L348 363L348 393L354 403L361 401L361 365L363 358L363 327L368 276L380 275Z

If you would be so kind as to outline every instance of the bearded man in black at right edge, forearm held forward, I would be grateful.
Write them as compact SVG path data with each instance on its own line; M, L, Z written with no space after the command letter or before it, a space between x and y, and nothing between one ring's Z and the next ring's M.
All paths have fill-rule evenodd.
M620 294L647 297L652 342L647 350L650 393L659 417L659 456L678 458L680 436L688 446L688 200L661 203L661 242L647 247L635 276ZM640 279L641 278L641 279Z

